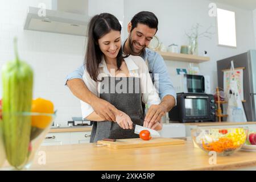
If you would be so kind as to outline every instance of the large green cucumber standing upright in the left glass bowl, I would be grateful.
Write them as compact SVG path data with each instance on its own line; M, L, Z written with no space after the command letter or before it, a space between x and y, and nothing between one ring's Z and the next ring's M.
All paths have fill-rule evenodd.
M11 166L20 169L27 162L30 143L33 71L19 60L14 39L15 60L2 67L3 140L6 157Z

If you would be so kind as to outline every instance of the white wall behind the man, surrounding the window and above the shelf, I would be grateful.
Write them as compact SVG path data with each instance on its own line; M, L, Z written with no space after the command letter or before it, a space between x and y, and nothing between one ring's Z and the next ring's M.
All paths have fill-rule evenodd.
M159 19L159 31L156 36L160 41L166 46L172 43L181 46L188 44L184 31L191 29L193 24L200 23L203 26L199 32L205 31L210 25L216 26L216 18L208 15L209 3L210 1L206 0L141 0L139 3L137 0L129 0L125 1L125 24L139 11L152 11ZM217 86L216 61L255 48L252 11L220 4L217 4L217 7L236 12L237 48L217 46L217 34L212 39L199 39L199 55L206 50L210 57L209 62L200 64L200 70L201 73L210 75L213 92ZM217 32L214 28L212 31ZM127 30L125 32L127 36ZM171 75L175 74L176 67L188 68L187 63L166 61L166 64Z

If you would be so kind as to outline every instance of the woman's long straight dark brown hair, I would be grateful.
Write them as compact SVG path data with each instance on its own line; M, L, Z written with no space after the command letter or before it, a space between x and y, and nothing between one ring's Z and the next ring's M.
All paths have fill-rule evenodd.
M103 53L98 46L98 39L108 34L111 30L121 32L121 29L122 27L118 19L109 13L95 15L90 20L88 29L88 44L84 64L86 65L87 72L94 81L100 81L98 80L98 65L101 63L103 56ZM117 55L118 69L120 69L123 61L122 52L123 51L121 47Z

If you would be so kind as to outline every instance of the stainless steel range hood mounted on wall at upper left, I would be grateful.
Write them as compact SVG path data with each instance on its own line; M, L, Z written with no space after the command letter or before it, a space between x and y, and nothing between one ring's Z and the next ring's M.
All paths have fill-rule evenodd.
M55 2L56 10L46 9L46 16L38 15L38 12L41 10L40 8L28 7L24 30L86 36L90 17L87 14L73 13L74 11L64 11L65 9L63 8L59 10L58 7L63 7L63 5L60 6L57 5L57 3L63 3L65 2L64 0L55 0L53 2ZM73 3L73 1L69 1L69 3ZM66 2L66 7L67 5L68 2Z

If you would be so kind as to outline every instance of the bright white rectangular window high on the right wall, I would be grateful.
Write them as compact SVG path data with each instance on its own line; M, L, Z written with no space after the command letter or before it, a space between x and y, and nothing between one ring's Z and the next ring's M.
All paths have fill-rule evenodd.
M234 11L217 9L218 44L237 47L236 16Z

